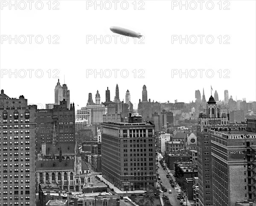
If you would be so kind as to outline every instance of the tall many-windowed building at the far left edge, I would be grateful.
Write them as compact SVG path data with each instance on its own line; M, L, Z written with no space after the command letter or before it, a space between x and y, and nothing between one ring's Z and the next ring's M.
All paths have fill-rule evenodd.
M35 206L35 113L27 99L0 95L0 205Z

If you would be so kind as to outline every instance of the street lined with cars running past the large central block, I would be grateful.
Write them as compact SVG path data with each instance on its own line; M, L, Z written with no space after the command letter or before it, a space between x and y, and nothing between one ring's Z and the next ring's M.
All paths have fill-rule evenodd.
M180 200L177 199L178 193L175 191L174 187L171 186L171 183L169 183L169 178L171 178L171 177L169 177L169 178L166 177L166 174L168 172L163 170L163 167L161 165L159 165L158 172L159 172L159 176L160 176L161 180L157 181L157 185L160 187L159 182L161 181L163 183L163 186L167 189L167 191L164 192L164 194L167 195L172 206L179 206ZM172 190L172 194L169 194L169 189ZM161 193L160 195L163 195L163 193Z

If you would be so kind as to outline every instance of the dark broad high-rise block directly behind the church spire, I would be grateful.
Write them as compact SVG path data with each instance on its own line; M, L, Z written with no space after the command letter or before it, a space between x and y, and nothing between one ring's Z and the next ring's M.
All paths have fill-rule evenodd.
M75 104L67 101L54 105L53 109L36 110L36 151L42 151L42 143L52 141L52 132L56 131L57 142L75 142Z

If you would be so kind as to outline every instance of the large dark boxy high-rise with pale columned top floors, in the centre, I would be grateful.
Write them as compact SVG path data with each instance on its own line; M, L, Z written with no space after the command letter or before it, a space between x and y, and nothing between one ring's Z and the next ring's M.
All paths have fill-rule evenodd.
M129 122L101 124L102 176L122 191L155 187L154 125L142 123L140 116L130 116Z

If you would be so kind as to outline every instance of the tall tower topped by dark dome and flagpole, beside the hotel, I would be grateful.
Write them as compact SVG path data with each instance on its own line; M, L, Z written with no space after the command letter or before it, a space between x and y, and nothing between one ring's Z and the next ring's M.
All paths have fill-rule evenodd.
M226 113L221 113L214 98L207 102L206 112L200 113L197 125L198 144L198 187L199 203L201 206L212 205L212 155L209 130L211 127L228 125Z

